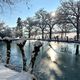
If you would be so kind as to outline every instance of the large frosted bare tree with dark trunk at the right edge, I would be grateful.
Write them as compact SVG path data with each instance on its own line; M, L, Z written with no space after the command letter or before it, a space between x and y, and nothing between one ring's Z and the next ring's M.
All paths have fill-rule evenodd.
M57 10L57 18L59 19L59 24L72 24L76 28L77 40L79 40L80 0L62 1L61 6Z

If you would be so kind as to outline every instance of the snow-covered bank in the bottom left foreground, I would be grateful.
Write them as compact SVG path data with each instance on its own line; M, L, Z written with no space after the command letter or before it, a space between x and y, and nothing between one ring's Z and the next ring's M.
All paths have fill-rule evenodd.
M33 80L33 78L34 75L29 72L16 72L0 64L0 80Z

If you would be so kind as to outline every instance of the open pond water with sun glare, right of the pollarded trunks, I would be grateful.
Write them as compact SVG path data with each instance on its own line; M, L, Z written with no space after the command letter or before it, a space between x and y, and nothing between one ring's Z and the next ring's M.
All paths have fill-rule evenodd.
M80 57L75 55L74 45L50 42L47 52L43 51L46 56L36 64L38 80L79 80Z

